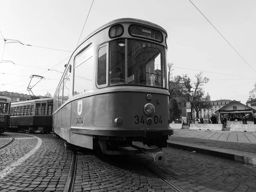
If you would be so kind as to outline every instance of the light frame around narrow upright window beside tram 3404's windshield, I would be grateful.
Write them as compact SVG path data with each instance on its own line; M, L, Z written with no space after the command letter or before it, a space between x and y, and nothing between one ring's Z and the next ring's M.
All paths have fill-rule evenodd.
M106 68L106 70L105 70L105 83L104 84L99 84L99 51L100 51L100 49L102 49L102 48L106 48L106 59L105 59L105 68ZM103 55L105 55L105 54L103 54ZM102 55L102 56L103 56ZM102 62L102 66L103 66L103 62ZM96 71L97 71L97 73L96 73L96 79L97 79L97 81L96 81L96 85L97 85L97 87L105 87L105 86L107 86L107 83L108 83L108 43L107 44L103 44L102 46L100 46L98 49L97 49L97 67L96 67ZM102 70L102 76L104 75L104 69ZM104 81L104 80L103 80Z

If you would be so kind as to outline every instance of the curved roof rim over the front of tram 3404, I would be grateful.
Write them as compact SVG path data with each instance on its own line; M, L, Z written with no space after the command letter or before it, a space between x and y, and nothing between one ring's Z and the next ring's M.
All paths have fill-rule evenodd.
M99 27L98 29L96 29L94 32L92 32L90 35L88 35L86 38L83 39L83 41L81 41L81 43L78 45L78 47L85 41L87 40L88 38L90 38L91 36L95 35L96 33L100 32L102 29L105 29L107 28L108 26L111 26L111 25L114 25L114 24L117 24L117 23L123 23L123 22L134 22L134 23L137 23L137 24L144 24L144 25L148 25L148 26L151 26L151 27L154 27L156 29L160 29L160 30L163 30L166 34L167 34L167 31L165 29L163 29L163 27L155 24L155 23L151 23L149 21L146 21L146 20L141 20L141 19L134 19L134 18L120 18L120 19L116 19L116 20L112 20L108 23L106 23L105 25Z

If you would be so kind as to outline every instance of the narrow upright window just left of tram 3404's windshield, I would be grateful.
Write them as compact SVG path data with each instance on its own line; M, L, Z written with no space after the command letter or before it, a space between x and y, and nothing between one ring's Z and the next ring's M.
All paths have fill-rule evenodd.
M107 84L107 46L98 51L98 85Z

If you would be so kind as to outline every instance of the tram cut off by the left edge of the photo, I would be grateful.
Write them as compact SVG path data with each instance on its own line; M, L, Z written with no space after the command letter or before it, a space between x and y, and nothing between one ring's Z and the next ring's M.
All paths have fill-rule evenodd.
M0 134L9 127L11 101L12 99L6 96L0 96Z

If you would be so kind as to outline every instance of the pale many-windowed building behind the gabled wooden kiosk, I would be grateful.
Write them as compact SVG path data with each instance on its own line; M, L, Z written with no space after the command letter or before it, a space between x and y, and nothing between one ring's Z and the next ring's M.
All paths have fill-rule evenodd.
M209 93L207 93L206 96L207 99L207 103L210 106L209 109L201 109L201 111L199 112L199 118L208 118L211 117L213 114L215 114L215 111L217 111L218 109L224 107L225 105L229 104L230 102L232 102L232 100L230 99L220 99L220 100L214 100L211 101L211 97L209 96ZM193 119L196 118L196 111L195 109L192 110L192 117Z

